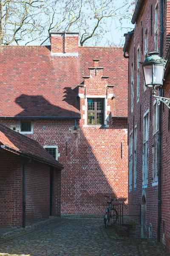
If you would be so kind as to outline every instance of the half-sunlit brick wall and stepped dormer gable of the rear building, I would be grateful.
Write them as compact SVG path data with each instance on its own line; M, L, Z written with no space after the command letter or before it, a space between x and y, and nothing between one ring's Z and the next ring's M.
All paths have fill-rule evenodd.
M33 134L28 136L41 145L57 145L58 160L64 169L56 173L56 214L103 214L103 195L110 194L127 203L127 120L112 119L114 111L113 87L101 78L102 70L91 70L85 88L79 89L81 120L74 130L73 120L35 120ZM85 100L89 96L107 95L107 125L85 125ZM125 111L125 110L122 110ZM121 109L119 113L122 113ZM14 124L15 120L2 120ZM123 157L121 158L121 143ZM61 198L59 186L61 182ZM33 195L34 197L34 195ZM59 206L61 204L61 212Z

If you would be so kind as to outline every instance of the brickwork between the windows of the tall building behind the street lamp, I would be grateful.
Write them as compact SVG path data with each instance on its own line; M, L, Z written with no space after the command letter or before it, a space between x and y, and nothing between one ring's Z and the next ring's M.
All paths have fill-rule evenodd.
M167 1L168 2L168 1ZM160 6L160 1L158 1ZM165 3L165 1L164 1ZM151 36L151 24L150 24L150 10L151 4L153 5L153 26L152 26L152 36ZM136 70L134 70L134 106L133 112L131 112L131 63L134 63L134 45L137 48L140 45L142 48L142 28L143 28L143 54L140 50L140 61L144 61L144 35L146 29L148 29L148 52L154 51L154 23L155 23L155 6L157 4L156 0L148 0L142 13L142 16L137 21L134 32L134 41L130 46L129 51L129 90L128 90L128 126L129 134L134 129L134 125L137 125L137 179L136 179L136 190L134 189L134 140L133 140L133 166L132 166L132 191L129 192L129 213L136 214L139 210L134 208L134 204L142 204L142 193L146 195L146 228L147 228L147 237L149 236L149 225L152 224L152 236L157 237L157 221L158 221L158 189L157 186L152 185L152 144L153 144L153 101L154 99L150 98L150 90L147 89L144 91L144 76L142 71L142 65L140 65L140 90L139 90L139 102L136 102L136 84L137 84L137 61L136 61ZM168 7L169 8L169 7ZM169 22L169 9L166 9L164 5L164 46L163 54L166 55L167 44L169 44L168 39L168 22ZM166 16L167 14L167 16ZM167 26L167 29L166 29ZM166 37L167 35L167 37ZM160 9L159 9L159 36L158 36L158 49L160 48ZM137 58L136 58L137 59ZM165 97L169 97L169 91L165 91ZM140 113L141 108L141 113ZM143 154L143 116L144 113L149 110L149 151L148 151L148 184L147 188L142 189L142 154ZM164 242L170 248L170 239L169 239L169 217L168 217L168 204L169 204L169 166L170 161L167 157L168 147L169 147L169 132L168 132L168 109L164 107L163 111L163 137L162 137L162 212L161 212L161 241ZM141 118L140 118L141 117ZM133 122L134 118L134 122ZM141 127L141 128L140 128ZM135 218L134 218L135 219ZM163 225L164 221L164 225ZM164 226L164 232L163 232ZM164 234L163 234L164 233Z

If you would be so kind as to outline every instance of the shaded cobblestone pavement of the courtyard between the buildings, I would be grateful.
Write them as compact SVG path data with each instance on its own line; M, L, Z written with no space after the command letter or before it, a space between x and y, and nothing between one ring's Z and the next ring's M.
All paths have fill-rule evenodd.
M118 236L102 219L60 222L0 244L0 256L170 256L162 244Z

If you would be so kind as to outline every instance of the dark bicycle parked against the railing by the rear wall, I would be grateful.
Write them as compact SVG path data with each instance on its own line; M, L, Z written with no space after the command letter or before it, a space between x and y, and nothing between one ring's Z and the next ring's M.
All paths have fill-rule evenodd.
M111 201L108 201L108 208L106 209L105 216L104 216L104 222L105 222L105 227L108 226L108 222L110 220L113 220L113 223L115 224L118 218L118 212L114 207L111 207L111 204L113 201L117 201L117 199L113 199L110 197L110 195L105 195L105 198L110 198Z

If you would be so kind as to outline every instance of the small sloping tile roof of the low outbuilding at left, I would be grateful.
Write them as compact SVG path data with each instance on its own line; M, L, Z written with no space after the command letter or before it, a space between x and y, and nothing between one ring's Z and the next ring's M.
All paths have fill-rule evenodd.
M49 154L37 141L26 137L0 124L0 144L6 145L4 150L29 157L62 169L63 166Z

